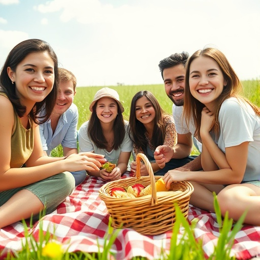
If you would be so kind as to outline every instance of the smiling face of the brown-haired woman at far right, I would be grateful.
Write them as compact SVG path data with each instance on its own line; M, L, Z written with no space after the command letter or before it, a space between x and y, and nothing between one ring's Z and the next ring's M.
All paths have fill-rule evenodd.
M190 93L214 111L216 99L226 85L218 63L212 58L200 56L190 63L189 71Z

